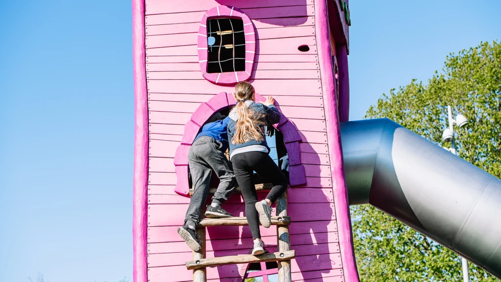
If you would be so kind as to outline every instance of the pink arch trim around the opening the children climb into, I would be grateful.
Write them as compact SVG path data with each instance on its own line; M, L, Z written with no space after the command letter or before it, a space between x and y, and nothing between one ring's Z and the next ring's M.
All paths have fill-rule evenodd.
M256 93L256 101L265 101L266 99ZM184 126L184 134L179 145L176 149L174 156L174 165L176 170L176 188L177 194L187 196L189 195L188 185L188 151L195 139L200 127L203 123L212 116L214 113L229 107L235 103L233 94L221 92L207 102L201 103L200 106L191 115L191 119L186 122ZM289 155L289 182L291 186L298 186L306 184L306 176L303 165L300 161L299 142L301 136L296 129L296 126L289 119L282 114L279 123L273 126L280 130L284 135L284 143Z

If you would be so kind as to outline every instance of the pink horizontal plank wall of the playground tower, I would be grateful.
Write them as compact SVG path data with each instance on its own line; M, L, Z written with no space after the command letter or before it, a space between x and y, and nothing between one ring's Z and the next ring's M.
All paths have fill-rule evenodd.
M184 262L189 248L177 235L189 203L174 193L174 157L184 124L202 102L232 86L203 79L197 56L199 22L218 5L242 10L256 28L256 57L252 76L261 95L274 95L281 111L299 130L300 161L307 183L289 189L291 241L297 251L293 280L344 281L338 223L334 206L325 95L318 58L313 0L146 0L145 71L148 88L148 280L188 281ZM278 7L281 6L281 7ZM300 52L300 45L310 51ZM265 193L259 193L261 198ZM243 199L233 196L224 207L243 216ZM175 211L175 212L173 212ZM166 216L166 215L169 216ZM269 250L276 248L276 229L262 228ZM244 254L252 236L247 226L207 229L207 256ZM241 281L245 265L207 268L213 281ZM173 275L172 273L176 273Z

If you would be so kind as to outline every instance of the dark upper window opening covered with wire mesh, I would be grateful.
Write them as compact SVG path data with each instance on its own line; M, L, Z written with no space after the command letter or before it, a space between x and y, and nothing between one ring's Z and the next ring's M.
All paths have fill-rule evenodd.
M245 35L241 19L207 21L207 72L245 70Z

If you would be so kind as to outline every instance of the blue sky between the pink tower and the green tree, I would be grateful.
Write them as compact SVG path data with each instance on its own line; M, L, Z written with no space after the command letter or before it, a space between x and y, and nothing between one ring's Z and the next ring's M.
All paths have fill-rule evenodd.
M501 40L499 13L495 0L350 0L350 120L391 88L426 82L449 53Z

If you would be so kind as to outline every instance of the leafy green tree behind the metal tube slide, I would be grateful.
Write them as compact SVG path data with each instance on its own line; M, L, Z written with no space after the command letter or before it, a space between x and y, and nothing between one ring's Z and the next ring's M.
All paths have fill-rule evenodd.
M442 72L427 84L412 80L391 89L365 117L390 118L450 147L441 140L447 105L468 118L468 128L455 128L458 155L501 178L501 44L496 41L449 54ZM351 213L362 281L462 281L460 259L449 249L374 207L353 206ZM469 266L471 281L499 281Z

